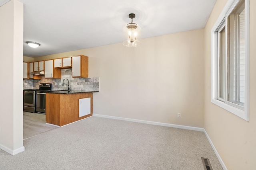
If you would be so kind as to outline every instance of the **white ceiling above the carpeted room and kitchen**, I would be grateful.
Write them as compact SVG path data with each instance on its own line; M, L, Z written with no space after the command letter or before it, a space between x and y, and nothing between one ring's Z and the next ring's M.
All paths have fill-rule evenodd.
M0 0L0 6L9 0ZM204 28L216 0L18 0L24 4L24 56L121 43L128 17L141 38ZM40 43L31 48L26 41ZM143 45L143 44L142 44ZM128 47L127 47L128 48Z

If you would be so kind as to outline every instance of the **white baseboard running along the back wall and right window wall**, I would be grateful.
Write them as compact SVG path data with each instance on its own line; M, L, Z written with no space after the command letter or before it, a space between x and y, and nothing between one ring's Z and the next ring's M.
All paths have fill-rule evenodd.
M192 126L184 126L184 125L176 125L176 124L170 124L170 123L160 123L160 122L155 122L155 121L145 121L145 120L138 120L138 119L130 119L130 118L124 118L124 117L115 117L115 116L108 116L108 115L100 115L100 114L93 114L95 117L104 117L104 118L110 118L110 119L118 119L118 120L124 120L124 121L132 121L132 122L138 122L138 123L146 123L150 125L159 125L159 126L166 126L166 127L175 127L179 129L187 129L187 130L192 130L192 131L200 131L204 132L206 135L206 138L208 139L212 149L214 150L218 160L220 161L220 164L223 168L223 170L228 170L226 165L224 164L222 158L220 157L220 154L218 153L217 149L214 147L209 135L207 134L206 130L204 128L200 127L192 127Z

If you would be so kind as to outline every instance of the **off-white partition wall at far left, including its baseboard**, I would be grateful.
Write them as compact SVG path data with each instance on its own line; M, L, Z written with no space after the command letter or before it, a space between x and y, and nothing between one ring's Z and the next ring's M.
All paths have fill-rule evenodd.
M0 149L17 154L23 147L23 4L0 7Z

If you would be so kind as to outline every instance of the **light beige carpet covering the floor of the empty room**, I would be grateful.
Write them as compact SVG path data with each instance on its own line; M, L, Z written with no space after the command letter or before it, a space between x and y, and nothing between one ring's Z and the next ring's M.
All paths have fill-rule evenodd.
M24 140L14 156L0 150L0 170L214 170L220 162L203 132L89 117Z

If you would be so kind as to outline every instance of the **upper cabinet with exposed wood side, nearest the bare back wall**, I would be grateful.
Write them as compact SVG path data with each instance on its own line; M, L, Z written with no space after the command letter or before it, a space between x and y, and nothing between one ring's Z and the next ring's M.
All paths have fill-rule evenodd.
M72 77L88 78L88 62L84 55L72 57Z

